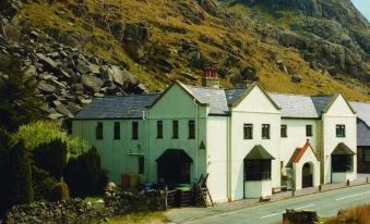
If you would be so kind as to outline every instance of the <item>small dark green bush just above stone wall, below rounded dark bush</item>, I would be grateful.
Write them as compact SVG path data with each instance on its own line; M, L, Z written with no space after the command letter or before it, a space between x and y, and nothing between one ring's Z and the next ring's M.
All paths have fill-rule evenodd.
M57 181L43 169L33 165L32 182L34 187L35 200L50 200L52 189Z

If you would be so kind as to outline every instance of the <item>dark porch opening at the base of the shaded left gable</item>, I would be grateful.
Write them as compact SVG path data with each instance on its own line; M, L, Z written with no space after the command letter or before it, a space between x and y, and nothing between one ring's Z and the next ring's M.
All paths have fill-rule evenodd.
M193 160L182 149L167 149L157 159L158 183L190 184L190 165Z

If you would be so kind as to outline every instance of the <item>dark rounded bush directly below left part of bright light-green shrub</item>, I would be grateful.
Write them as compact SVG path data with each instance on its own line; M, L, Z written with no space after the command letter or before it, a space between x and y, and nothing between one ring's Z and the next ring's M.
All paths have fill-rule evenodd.
M39 145L34 149L34 162L39 169L60 179L67 165L67 145L60 139Z

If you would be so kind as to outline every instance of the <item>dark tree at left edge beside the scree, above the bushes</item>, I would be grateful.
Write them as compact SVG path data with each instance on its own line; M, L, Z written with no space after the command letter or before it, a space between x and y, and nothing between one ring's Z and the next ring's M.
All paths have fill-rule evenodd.
M15 132L22 124L39 117L40 99L37 82L22 70L14 54L0 54L0 127Z

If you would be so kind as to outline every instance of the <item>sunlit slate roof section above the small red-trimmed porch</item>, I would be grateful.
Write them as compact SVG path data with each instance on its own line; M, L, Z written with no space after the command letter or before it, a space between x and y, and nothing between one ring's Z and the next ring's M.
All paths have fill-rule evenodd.
M289 94L268 94L282 109L283 117L318 119L311 97Z

